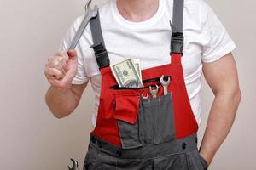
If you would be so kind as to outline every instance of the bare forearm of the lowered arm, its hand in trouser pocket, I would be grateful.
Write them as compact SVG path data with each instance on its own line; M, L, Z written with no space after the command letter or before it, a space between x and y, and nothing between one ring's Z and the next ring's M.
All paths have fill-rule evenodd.
M201 155L206 159L208 164L211 163L219 146L224 142L224 139L230 132L240 99L240 90L231 93L216 94L200 150Z

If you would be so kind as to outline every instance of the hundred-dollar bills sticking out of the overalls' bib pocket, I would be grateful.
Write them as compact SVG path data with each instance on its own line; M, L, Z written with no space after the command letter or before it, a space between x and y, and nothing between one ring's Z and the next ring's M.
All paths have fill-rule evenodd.
M136 65L132 59L125 59L117 64L110 65L113 76L119 87L142 88L143 82L137 73Z

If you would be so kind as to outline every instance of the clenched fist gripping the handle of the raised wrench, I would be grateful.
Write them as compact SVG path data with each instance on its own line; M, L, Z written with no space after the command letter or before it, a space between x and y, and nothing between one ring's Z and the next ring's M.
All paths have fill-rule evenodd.
M78 57L75 50L60 52L48 59L44 74L55 88L70 87L78 70Z

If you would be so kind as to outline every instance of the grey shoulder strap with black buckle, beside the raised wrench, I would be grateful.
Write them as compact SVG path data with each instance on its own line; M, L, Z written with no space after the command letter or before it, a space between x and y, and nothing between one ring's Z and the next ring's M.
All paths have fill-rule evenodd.
M108 58L108 52L105 48L105 43L102 36L102 26L99 11L97 12L96 17L90 20L90 31L94 43L91 46L91 48L93 48L94 50L97 64L100 69L108 67L110 62Z

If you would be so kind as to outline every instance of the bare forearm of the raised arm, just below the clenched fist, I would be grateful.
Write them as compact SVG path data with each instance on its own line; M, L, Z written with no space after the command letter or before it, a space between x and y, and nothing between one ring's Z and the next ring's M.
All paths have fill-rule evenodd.
M68 88L59 90L53 86L49 87L45 100L49 110L57 118L68 116L77 106L75 95Z

